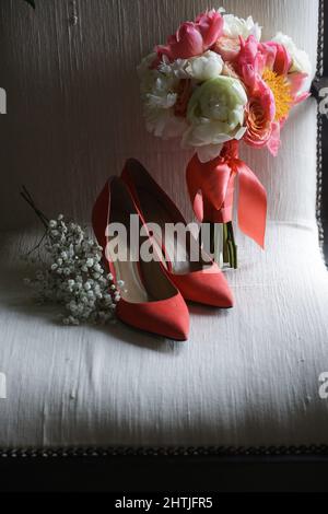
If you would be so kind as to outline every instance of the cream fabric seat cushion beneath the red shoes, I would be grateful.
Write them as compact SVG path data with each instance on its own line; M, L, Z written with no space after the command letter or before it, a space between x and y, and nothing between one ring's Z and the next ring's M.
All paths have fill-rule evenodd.
M22 284L31 235L1 234L0 446L328 443L328 273L311 225L239 244L236 306L191 305L188 342L61 327Z

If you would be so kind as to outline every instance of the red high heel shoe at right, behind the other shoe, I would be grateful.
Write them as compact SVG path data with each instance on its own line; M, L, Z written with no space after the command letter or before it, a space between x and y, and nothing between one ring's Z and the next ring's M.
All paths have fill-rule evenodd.
M179 236L167 237L165 224L183 223L186 220L164 192L164 190L151 177L142 164L129 159L126 162L121 178L125 180L133 197L134 203L145 224L155 223L161 227L161 234L153 233L154 238L162 241L162 249L167 273L186 300L213 305L216 307L232 307L233 296L219 266L200 248L199 242L189 233L187 241L180 241ZM154 232L151 225L151 232ZM187 243L187 244L186 244ZM198 248L198 258L190 258L192 248Z

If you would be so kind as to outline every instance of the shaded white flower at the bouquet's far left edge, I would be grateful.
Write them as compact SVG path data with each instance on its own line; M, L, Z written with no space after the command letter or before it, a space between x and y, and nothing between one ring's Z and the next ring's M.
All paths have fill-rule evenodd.
M149 55L138 67L145 126L156 137L176 138L187 128L185 119L174 114L179 78L151 69L154 58L155 54Z

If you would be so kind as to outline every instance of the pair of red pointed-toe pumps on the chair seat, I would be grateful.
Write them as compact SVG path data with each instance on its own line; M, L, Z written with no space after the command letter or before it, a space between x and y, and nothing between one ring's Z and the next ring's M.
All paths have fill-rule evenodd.
M133 231L131 214L137 220ZM124 282L116 313L128 325L186 340L189 312L185 300L233 306L221 269L199 241L190 232L167 231L167 226L185 229L186 220L138 161L128 160L121 177L108 179L93 208L92 222L114 281ZM136 229L141 234L137 240ZM196 248L197 260L191 258ZM144 252L153 258L142 257Z

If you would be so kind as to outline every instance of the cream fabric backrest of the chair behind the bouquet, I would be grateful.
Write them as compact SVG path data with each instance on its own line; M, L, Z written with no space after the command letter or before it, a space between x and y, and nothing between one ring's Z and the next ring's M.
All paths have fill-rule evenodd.
M263 36L289 34L316 66L318 0L222 0L227 12L251 14ZM48 215L63 211L89 220L110 174L134 156L190 214L185 165L177 141L145 131L136 67L177 25L209 7L208 0L69 0L1 2L0 226L33 220L20 200L23 183ZM69 15L68 15L69 14ZM75 15L77 17L72 17ZM269 219L315 222L316 105L297 107L277 159L243 150L269 195Z

